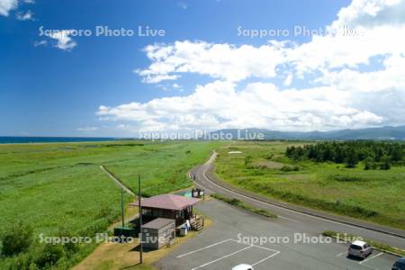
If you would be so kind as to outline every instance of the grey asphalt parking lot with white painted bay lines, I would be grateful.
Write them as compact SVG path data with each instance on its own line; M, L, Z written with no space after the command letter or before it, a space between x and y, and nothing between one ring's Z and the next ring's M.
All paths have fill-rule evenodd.
M231 269L248 264L257 269L391 269L397 259L374 250L365 260L347 257L347 245L329 243L247 243L243 236L283 236L302 232L299 223L268 220L223 202L198 206L213 225L157 263L159 269ZM320 236L311 236L320 237ZM320 237L321 238L321 237Z

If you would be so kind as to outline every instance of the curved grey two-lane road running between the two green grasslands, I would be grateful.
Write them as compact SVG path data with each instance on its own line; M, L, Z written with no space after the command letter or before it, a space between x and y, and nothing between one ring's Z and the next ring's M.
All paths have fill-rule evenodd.
M400 229L392 229L367 223L362 220L355 220L327 212L314 211L290 203L274 201L229 186L229 184L220 181L213 174L212 163L215 160L215 157L216 153L214 152L205 164L194 167L190 172L194 184L202 187L207 193L220 193L247 202L258 208L275 212L279 219L284 220L284 222L289 222L289 226L311 233L312 235L318 235L323 231L330 229L347 232L364 238L371 238L393 247L405 249L405 231Z

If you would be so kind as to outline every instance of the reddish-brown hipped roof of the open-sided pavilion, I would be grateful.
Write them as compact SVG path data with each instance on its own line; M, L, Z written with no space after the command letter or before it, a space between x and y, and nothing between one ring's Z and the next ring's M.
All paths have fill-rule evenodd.
M142 198L140 204L142 207L159 208L180 211L187 206L200 202L200 199L187 198L175 194L160 194L150 198ZM131 206L138 206L138 201L131 202Z

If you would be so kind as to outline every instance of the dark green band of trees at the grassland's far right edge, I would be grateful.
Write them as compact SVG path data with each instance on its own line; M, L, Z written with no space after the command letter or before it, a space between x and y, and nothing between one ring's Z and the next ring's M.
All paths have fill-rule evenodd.
M358 162L364 161L365 169L389 169L393 163L402 162L404 150L405 144L397 142L327 141L293 146L286 149L285 155L294 160L345 163L347 167L355 167Z

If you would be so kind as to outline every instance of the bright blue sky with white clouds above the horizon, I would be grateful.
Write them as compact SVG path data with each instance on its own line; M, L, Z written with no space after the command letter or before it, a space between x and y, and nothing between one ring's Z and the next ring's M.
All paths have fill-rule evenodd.
M324 28L339 20L353 23L353 15L338 16L343 7L350 6L350 1L27 2L31 1L0 0L0 113L3 116L0 135L121 137L136 136L139 130L213 130L249 125L279 130L333 130L402 123L401 119L392 116L402 112L401 98L398 100L398 95L401 97L404 93L402 81L388 87L389 90L372 87L365 91L372 99L367 103L358 103L357 99L365 98L363 95L353 97L350 89L356 85L336 86L333 81L358 73L377 76L376 71L392 67L382 64L391 56L396 57L392 59L395 65L403 63L401 50L386 50L388 46L382 44L358 59L345 52L343 57L347 61L336 62L342 52L331 48L330 53L323 53L335 57L325 64L316 60L320 45L315 44L317 40L313 36L251 38L238 35L238 27L293 30L297 25L308 29ZM382 11L383 8L386 6ZM367 22L378 18L378 12L370 16L362 14L359 7L354 6L353 10L352 13L365 16L361 23L354 22L353 28L368 27ZM378 23L383 27L385 24L380 21ZM97 37L92 34L87 37L67 34L65 40L39 36L40 26L46 30L94 32L97 25L134 30L135 35ZM165 36L139 37L139 26L164 30ZM395 27L400 31L401 22ZM283 59L267 67L257 54L266 57L267 49L275 49L275 45L269 45L269 40L288 44L277 50L275 57L269 57L268 62L278 58L278 54ZM333 40L322 42L326 44L322 46L336 43ZM220 53L230 52L232 56L211 63L216 58L215 44L226 44L228 47L220 49ZM305 44L313 46L308 51L314 56L306 52ZM170 56L150 58L145 51L148 45L155 46L151 49L153 52L170 49ZM353 48L357 45L361 44L356 43ZM242 49L244 46L249 46L247 52ZM261 46L266 46L262 48L265 50L259 50ZM298 63L296 55L300 59L308 57L308 60ZM179 57L181 63L174 63ZM153 64L160 65L159 68L172 68L173 72L163 70L165 68L157 70ZM238 70L245 67L246 74L237 76ZM272 74L272 68L275 74ZM266 74L261 70L266 70ZM148 81L145 74L155 80ZM293 82L287 82L289 75ZM173 77L160 80L157 76ZM387 77L389 75L384 73L382 80ZM311 94L303 94L302 90L316 93L307 100L304 97ZM350 94L353 102L333 103L336 91L344 91L342 96ZM194 100L204 100L202 93L207 95L207 103ZM373 94L374 98L380 97L380 102L382 95L386 98L380 104L382 107L370 105L374 103ZM227 95L229 103L222 102L227 106L211 106ZM293 96L294 100L285 105L293 107L288 112L276 105L285 96ZM257 112L249 108L232 109L244 101L257 103L255 107L263 109ZM394 101L400 102L395 104L395 111L390 112L391 116L383 115L384 106L390 106ZM337 107L332 115L322 109L330 107L330 102ZM185 110L184 103L190 108ZM313 106L319 109L316 112L297 109ZM196 110L196 107L200 109ZM329 120L331 117L335 117L333 121Z

